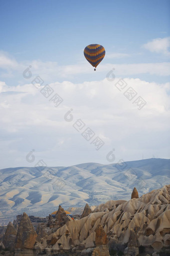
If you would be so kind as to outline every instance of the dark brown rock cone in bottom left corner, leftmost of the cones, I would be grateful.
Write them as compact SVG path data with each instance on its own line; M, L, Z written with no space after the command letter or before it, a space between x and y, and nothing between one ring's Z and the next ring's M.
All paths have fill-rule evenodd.
M11 222L8 223L5 234L3 236L2 243L5 248L13 249L15 245L17 230Z

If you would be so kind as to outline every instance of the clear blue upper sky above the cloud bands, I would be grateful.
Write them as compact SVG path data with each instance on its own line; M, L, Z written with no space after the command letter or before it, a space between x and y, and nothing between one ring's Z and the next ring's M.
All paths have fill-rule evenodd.
M105 47L102 64L168 61L169 56L149 52L142 45L155 38L168 37L169 1L50 0L27 3L1 0L0 6L0 49L18 62L85 63L83 49L90 43ZM129 56L107 59L107 54L112 52ZM103 74L95 75L92 73L89 79L103 77ZM150 81L169 79L145 75ZM82 82L85 78L78 76L71 80ZM18 80L20 82L19 77Z

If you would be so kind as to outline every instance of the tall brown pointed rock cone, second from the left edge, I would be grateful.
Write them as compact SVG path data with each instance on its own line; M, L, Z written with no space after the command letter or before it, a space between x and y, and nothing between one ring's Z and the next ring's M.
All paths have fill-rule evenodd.
M27 214L24 212L19 222L15 248L33 248L36 236L37 234L34 231L32 223Z

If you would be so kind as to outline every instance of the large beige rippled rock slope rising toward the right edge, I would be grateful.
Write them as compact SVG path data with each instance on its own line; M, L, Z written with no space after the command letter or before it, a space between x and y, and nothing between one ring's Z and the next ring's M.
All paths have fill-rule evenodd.
M98 239L96 233L102 234L102 231L99 232L100 228L96 230L96 227L101 224L110 246L127 243L129 248L140 245L150 246L152 249L167 247L170 245L169 202L170 185L153 190L135 200L110 200L97 206L86 217L67 221L55 232L42 238L42 243L37 243L37 246L45 249L46 241L50 244L53 240L51 249L59 249L61 245L63 250L74 246L72 251L78 251L80 247L82 249L95 247L95 242L97 243L95 237ZM67 237L66 230L69 233Z

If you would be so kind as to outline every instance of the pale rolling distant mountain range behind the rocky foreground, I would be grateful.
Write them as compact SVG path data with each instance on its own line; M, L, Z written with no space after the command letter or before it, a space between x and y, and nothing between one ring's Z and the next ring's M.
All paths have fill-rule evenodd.
M129 200L170 184L169 159L145 159L70 167L17 167L0 170L0 219L27 214L48 215L58 208Z

